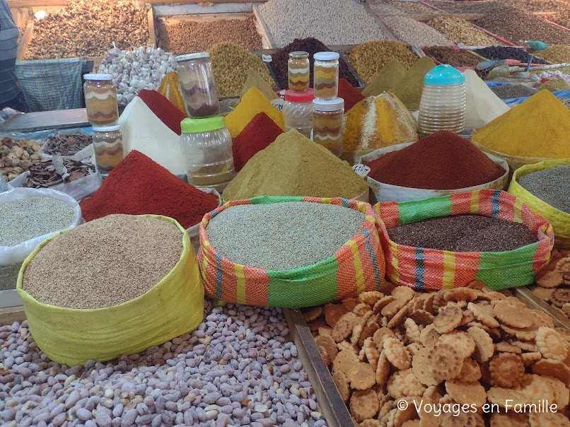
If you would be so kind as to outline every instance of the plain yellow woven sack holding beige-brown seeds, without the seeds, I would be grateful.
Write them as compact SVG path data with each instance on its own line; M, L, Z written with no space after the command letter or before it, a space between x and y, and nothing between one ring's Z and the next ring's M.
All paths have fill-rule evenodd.
M180 229L182 254L161 281L126 303L91 310L61 308L39 303L22 289L23 272L28 264L60 233L42 242L25 259L18 276L18 295L23 300L37 346L52 361L73 366L88 360L108 361L123 354L139 353L192 332L202 322L204 283L188 233L173 218L145 216L169 221Z

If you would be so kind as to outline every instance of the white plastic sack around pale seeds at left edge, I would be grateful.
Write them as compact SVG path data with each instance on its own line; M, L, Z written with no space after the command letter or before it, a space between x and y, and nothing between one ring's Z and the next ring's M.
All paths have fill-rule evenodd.
M35 188L16 188L8 190L7 192L0 194L0 206L8 203L8 201L28 199L30 197L52 197L53 199L58 199L69 204L74 209L74 221L69 225L68 228L73 228L82 223L81 218L81 208L77 201L62 192L57 192L52 189L35 189ZM45 239L51 237L60 230L54 230L52 233L47 233L45 235L40 235L37 238L26 240L16 246L0 246L0 267L6 265L16 264L18 262L23 262L23 260L30 255L33 250L40 245Z

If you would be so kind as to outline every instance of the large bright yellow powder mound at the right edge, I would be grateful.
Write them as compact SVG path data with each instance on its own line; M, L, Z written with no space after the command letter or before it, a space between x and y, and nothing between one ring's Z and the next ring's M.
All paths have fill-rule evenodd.
M472 141L510 156L570 158L570 110L540 90L475 131Z

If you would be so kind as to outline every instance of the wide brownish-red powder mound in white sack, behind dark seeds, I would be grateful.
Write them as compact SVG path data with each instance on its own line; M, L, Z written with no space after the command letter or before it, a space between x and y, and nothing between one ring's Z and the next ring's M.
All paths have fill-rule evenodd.
M505 170L467 139L438 131L399 151L363 162L368 176L386 184L423 189L458 189L486 184Z

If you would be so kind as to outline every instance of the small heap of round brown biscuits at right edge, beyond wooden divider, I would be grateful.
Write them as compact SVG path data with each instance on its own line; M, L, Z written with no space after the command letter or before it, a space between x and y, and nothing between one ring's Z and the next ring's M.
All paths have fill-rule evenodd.
M536 275L530 290L570 319L570 251L552 252L547 267Z

